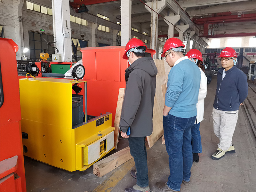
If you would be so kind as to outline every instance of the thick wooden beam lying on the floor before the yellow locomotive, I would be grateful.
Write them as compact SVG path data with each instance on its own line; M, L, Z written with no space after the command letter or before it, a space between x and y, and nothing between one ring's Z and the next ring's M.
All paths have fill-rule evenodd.
M101 177L130 159L130 148L126 147L93 164L93 174Z

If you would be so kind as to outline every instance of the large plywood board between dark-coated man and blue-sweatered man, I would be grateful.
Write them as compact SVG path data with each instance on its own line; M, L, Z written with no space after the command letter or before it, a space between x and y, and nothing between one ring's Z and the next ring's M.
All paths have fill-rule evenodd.
M156 141L164 134L163 129L163 108L164 96L162 85L166 84L170 67L164 60L154 60L158 73L156 75L156 95L153 109L153 132L147 137L148 146L152 147Z

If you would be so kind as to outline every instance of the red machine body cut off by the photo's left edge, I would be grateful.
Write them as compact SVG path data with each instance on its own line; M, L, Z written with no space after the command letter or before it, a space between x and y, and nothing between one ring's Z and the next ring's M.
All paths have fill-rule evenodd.
M20 127L20 94L17 77L16 52L18 45L12 39L0 38L0 62L4 103L0 108L0 161L18 156L11 174L1 166L1 191L26 191L25 169ZM8 160L7 160L8 161ZM13 167L12 167L13 168ZM5 172L4 172L5 169ZM7 169L8 170L8 169ZM5 175L5 173L8 175ZM14 177L14 174L19 177ZM15 186L13 186L15 184Z

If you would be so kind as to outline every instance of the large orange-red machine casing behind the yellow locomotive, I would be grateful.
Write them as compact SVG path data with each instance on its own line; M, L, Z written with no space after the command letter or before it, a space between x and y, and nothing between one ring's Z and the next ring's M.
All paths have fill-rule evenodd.
M125 69L128 60L123 59L125 46L82 48L84 80L87 80L88 115L112 113L112 126L116 115L119 88L125 88ZM147 49L153 56L156 51Z

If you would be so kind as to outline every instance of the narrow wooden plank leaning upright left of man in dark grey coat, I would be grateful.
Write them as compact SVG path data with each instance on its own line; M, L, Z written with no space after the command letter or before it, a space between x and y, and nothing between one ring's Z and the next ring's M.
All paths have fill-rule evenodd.
M125 88L119 89L118 100L117 100L117 105L116 105L116 116L115 116L115 121L114 121L114 127L115 127L114 146L115 146L115 149L117 148L117 143L118 143L119 124L120 124L121 111L122 111L122 106L123 106L123 101L124 101L124 92L125 92Z

